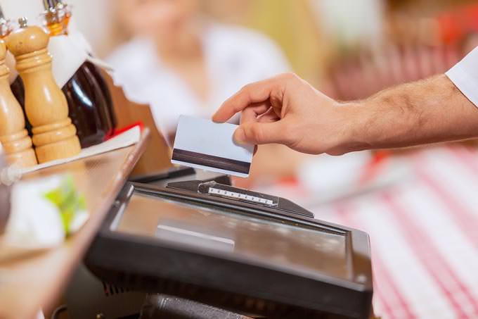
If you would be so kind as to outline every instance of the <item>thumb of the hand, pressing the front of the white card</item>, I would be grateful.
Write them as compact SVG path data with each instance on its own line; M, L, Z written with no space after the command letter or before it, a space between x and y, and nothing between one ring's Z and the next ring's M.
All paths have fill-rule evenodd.
M234 132L234 140L238 144L271 144L281 143L287 139L285 130L279 122L243 123Z

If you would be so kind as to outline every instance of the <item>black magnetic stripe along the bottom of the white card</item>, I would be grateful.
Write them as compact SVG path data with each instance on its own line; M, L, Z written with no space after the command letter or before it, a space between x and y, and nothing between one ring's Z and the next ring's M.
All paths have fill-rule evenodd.
M251 165L250 163L244 161L196 153L193 151L185 151L183 149L174 149L172 159L174 161L192 163L210 168L219 168L221 170L231 170L235 173L243 174L249 174Z

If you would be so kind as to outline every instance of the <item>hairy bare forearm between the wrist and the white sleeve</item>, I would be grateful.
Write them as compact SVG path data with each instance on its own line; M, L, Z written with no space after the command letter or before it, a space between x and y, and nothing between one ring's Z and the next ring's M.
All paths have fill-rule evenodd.
M347 151L478 137L478 108L446 75L343 105Z

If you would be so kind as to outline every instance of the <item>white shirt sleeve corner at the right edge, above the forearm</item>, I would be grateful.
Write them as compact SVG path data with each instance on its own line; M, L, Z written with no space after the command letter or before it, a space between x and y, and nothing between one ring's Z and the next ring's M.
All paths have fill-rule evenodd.
M475 106L478 106L478 46L445 74Z

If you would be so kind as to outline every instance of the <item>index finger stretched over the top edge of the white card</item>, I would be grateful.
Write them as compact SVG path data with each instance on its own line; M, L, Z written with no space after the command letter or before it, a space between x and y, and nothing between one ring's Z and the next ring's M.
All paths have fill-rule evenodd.
M269 80L246 85L221 105L219 110L212 116L212 120L219 123L226 122L226 120L232 118L235 113L243 111L251 104L262 103L269 100L271 94L273 96L280 96L281 94L275 93L283 92L286 80L286 77L279 75Z

